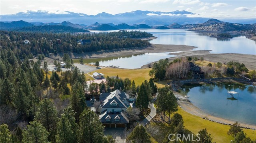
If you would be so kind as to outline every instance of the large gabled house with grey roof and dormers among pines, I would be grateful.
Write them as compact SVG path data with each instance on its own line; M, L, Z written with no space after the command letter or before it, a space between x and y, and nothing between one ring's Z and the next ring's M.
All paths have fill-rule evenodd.
M122 92L115 90L110 93L102 91L100 94L100 121L105 127L126 127L129 119L126 117L128 107L135 106L135 99ZM88 107L93 107L94 98L87 101Z

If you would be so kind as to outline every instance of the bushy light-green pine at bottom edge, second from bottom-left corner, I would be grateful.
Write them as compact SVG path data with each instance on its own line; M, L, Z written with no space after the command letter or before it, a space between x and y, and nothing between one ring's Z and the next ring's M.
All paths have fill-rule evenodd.
M31 121L22 135L22 143L48 143L47 137L49 133L38 121Z

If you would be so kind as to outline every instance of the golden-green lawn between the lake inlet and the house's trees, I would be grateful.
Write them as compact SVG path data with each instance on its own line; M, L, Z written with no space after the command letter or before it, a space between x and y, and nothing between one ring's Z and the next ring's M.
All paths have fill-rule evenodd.
M150 76L148 75L149 71L152 68L146 68L146 69L115 69L115 68L102 68L99 70L96 70L96 72L105 74L105 77L107 76L116 76L124 79L124 78L130 78L130 80L134 80L136 85L140 85L144 80L149 80ZM87 78L88 76L86 76ZM166 81L159 81L155 82L158 87L163 87L166 85Z

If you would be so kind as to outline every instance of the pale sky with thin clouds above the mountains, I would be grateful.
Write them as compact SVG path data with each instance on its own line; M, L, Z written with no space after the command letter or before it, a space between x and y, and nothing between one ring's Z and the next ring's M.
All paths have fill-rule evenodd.
M1 15L26 10L70 11L88 15L134 10L186 10L206 18L256 18L256 0L0 0Z

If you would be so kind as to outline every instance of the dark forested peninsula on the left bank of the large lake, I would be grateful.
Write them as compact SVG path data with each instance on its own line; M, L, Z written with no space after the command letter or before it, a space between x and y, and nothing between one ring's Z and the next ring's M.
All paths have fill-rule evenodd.
M150 45L148 41L135 38L152 37L152 34L139 31L118 31L110 33L32 33L1 31L1 48L11 49L14 55L33 55L57 52L92 52L102 50L129 49ZM60 41L56 41L60 39ZM88 40L81 44L80 41ZM25 44L24 40L30 43Z

